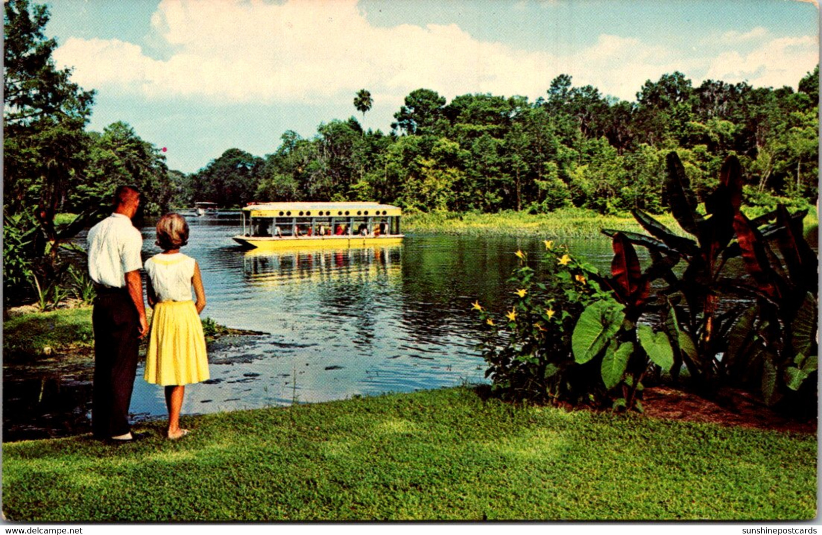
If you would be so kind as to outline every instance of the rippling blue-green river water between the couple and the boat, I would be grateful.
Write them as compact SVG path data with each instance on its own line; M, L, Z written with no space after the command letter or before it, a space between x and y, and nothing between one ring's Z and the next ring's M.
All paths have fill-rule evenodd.
M184 415L482 382L471 303L502 311L513 300L515 251L533 259L544 248L538 238L411 234L395 247L262 253L230 238L238 214L187 219L182 252L201 266L202 316L265 334L210 348L211 379L187 386ZM153 227L142 233L145 259L159 248ZM610 265L607 239L564 243L601 270ZM88 381L49 380L4 384L4 440L87 431ZM163 389L145 383L142 365L131 412L136 421L166 414Z

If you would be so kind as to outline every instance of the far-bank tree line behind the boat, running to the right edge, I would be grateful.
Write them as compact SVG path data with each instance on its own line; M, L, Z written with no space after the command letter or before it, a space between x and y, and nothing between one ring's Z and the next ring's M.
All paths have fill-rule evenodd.
M323 123L311 138L287 131L265 157L227 150L187 175L176 199L657 213L665 205L665 155L676 150L698 196L716 185L723 160L737 155L750 204L772 196L802 203L817 196L819 67L798 87L694 86L674 72L646 81L635 102L575 87L565 74L533 102L476 94L449 103L423 88L405 97L387 134L364 131L353 117ZM363 106L360 93L354 104L364 114L370 95Z

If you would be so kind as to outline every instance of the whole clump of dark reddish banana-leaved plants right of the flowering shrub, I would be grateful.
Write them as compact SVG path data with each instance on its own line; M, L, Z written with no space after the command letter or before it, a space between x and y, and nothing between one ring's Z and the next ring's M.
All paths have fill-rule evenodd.
M756 385L769 404L776 403L786 387L799 390L816 369L818 347L815 321L810 320L811 310L816 310L818 261L803 238L806 212L788 214L779 206L748 219L741 212L741 166L733 155L723 164L718 186L705 198L706 214L697 210L699 203L676 152L667 155L664 191L677 223L695 239L674 233L641 210L634 210L635 219L650 236L607 229L603 233L623 248L632 250L631 243L647 248L653 265L645 282L667 283L654 295L655 309L649 306L639 313L661 314L673 341L673 376L684 363L704 392L729 383ZM771 250L771 242L781 256ZM747 278L728 268L739 257ZM677 274L672 268L681 260L686 268Z

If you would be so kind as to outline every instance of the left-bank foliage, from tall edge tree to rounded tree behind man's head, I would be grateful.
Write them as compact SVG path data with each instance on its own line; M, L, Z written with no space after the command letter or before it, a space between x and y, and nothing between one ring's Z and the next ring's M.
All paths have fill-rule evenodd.
M3 297L53 306L68 285L87 296L88 281L59 251L109 211L118 184L141 187L150 213L168 210L173 190L161 152L127 124L85 131L94 91L54 65L57 43L45 38L47 22L45 6L5 2ZM59 222L65 212L76 218Z

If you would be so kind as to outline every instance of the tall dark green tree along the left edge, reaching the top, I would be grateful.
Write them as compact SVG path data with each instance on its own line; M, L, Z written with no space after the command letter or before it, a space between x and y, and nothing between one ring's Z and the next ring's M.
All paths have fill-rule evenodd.
M58 288L67 270L61 245L90 215L54 223L83 171L94 92L72 83L70 69L55 67L57 42L44 35L48 18L45 6L4 3L3 255L14 259L3 262L5 302L29 298L33 284L46 293Z

